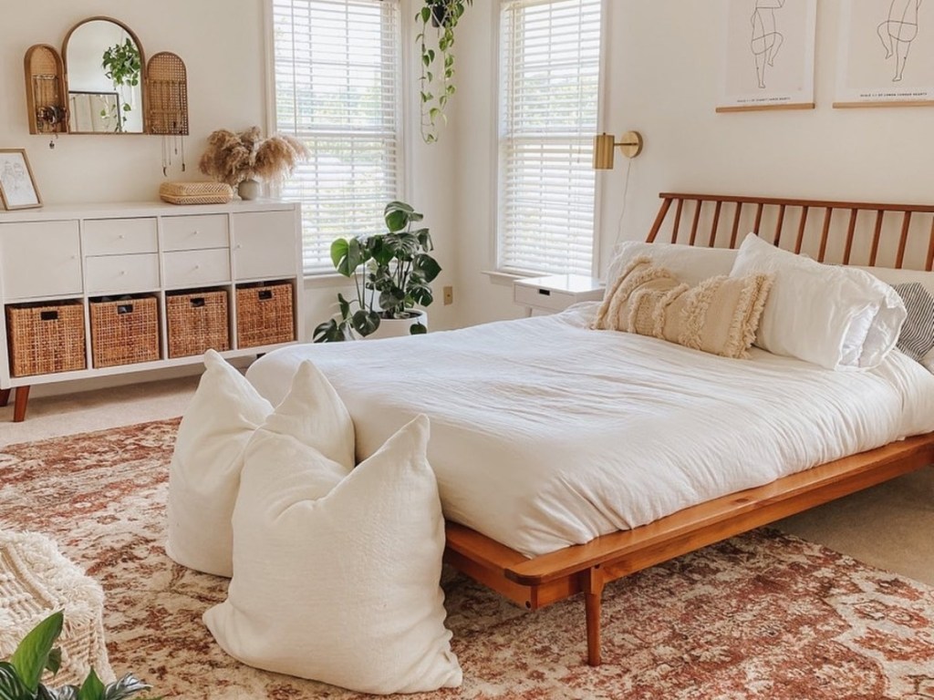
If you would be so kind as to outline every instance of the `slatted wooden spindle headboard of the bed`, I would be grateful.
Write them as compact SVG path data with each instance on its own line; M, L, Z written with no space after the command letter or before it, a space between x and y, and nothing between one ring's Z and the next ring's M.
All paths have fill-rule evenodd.
M662 203L646 239L649 243L657 240L674 204L671 243L724 247L729 242L729 247L735 248L746 233L753 231L796 253L813 249L814 258L820 262L827 258L830 245L842 246L838 261L844 265L851 264L856 248L860 248L860 264L875 267L882 264L881 246L894 242L892 267L905 267L908 255L912 263L909 267L927 271L934 268L934 205L675 192L658 196ZM727 225L722 225L724 219ZM793 240L789 234L794 234ZM861 250L864 247L868 250Z

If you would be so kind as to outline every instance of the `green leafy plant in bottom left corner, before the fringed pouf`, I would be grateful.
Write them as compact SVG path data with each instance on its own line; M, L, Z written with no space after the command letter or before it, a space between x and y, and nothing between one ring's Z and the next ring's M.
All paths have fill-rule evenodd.
M62 650L54 645L63 625L64 613L53 612L22 637L7 661L0 661L0 700L124 700L149 690L149 685L129 673L105 685L93 668L79 686L50 688L43 683L46 671L54 675L62 665Z

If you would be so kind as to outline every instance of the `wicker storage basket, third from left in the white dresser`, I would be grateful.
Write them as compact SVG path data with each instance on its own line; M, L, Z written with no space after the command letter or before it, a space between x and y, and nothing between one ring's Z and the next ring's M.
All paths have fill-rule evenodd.
M165 295L169 357L230 350L227 290L207 289Z

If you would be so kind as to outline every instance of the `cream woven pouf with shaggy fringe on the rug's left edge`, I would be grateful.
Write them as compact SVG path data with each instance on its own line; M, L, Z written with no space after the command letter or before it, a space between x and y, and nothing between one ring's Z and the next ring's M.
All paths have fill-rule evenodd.
M55 642L62 667L52 685L80 684L93 666L104 682L114 680L104 644L104 591L33 532L0 530L0 658L55 610L64 609L64 629Z

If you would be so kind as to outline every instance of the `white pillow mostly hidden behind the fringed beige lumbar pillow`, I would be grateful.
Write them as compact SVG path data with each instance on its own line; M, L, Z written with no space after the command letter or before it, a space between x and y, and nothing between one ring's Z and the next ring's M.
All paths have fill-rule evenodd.
M616 246L616 253L606 273L609 290L632 260L648 256L659 267L668 269L690 287L697 287L710 277L729 274L737 251L730 248L704 248L697 245L672 243L643 243L624 241Z

